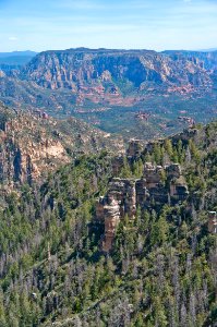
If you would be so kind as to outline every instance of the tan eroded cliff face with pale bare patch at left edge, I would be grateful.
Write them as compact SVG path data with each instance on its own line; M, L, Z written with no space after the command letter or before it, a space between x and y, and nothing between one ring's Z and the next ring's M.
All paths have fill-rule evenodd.
M50 137L34 116L15 116L0 131L0 181L32 183L44 172L70 162L70 156L60 141Z

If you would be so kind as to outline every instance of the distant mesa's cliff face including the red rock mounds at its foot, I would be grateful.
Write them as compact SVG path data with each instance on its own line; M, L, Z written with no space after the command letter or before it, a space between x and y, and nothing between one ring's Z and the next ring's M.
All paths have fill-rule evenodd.
M77 104L84 99L132 105L152 87L165 92L213 85L205 58L174 57L147 50L70 49L37 55L20 76L50 89L71 89ZM207 60L206 60L207 61ZM129 87L138 94L125 94Z

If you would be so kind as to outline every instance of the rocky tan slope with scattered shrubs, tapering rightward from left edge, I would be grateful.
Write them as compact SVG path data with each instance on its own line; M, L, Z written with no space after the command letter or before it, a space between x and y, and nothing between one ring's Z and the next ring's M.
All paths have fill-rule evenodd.
M39 110L23 113L0 105L0 182L7 186L31 184L77 154L123 149L121 138L73 118L57 121Z

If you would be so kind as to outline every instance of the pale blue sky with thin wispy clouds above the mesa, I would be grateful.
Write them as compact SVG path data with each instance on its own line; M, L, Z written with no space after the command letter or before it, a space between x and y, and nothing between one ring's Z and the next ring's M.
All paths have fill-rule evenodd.
M217 0L0 0L0 52L217 48Z

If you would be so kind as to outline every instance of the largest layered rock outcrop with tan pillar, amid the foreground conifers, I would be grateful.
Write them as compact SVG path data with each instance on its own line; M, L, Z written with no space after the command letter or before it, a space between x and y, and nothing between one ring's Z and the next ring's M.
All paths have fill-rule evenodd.
M161 182L162 171L167 175L169 187ZM161 167L146 162L144 175L140 180L113 178L108 185L107 194L96 204L96 219L105 226L101 250L109 252L112 249L120 219L125 215L133 219L137 206L143 209L149 207L153 202L164 205L169 198L177 203L186 199L188 195L185 180L177 164Z

